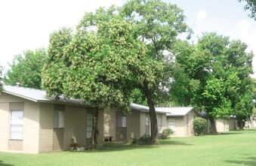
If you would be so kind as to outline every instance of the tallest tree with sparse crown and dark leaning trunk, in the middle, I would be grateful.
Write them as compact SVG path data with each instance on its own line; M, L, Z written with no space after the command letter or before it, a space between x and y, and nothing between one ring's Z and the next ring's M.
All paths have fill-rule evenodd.
M140 77L137 88L146 96L150 107L151 137L155 142L158 138L155 105L164 101L167 96L165 94L168 93L166 87L170 77L165 71L170 68L172 48L177 35L188 32L190 29L184 22L185 16L180 8L160 0L128 1L121 8L120 14L134 25L134 34L147 47L148 60L145 62L151 63L148 70L151 69L153 77L140 77L140 73L135 72L135 74ZM159 65L158 72L152 70L156 62L162 63L162 67Z

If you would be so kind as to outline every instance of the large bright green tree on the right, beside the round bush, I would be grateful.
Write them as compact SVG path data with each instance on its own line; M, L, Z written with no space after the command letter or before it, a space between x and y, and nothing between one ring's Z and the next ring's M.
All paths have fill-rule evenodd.
M241 41L208 33L198 44L179 42L175 47L176 63L171 85L171 96L184 104L205 110L216 133L214 119L235 115L239 121L251 114L252 53ZM180 93L178 91L180 90ZM177 100L176 99L176 100ZM242 107L244 107L242 109Z

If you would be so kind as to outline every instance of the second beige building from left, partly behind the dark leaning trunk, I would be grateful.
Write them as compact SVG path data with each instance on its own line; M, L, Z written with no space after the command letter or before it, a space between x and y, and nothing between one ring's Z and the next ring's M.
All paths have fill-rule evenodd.
M131 104L131 113L125 115L118 108L104 109L103 137L116 141L131 140L150 134L150 114L146 106ZM166 113L156 110L159 132L166 127Z

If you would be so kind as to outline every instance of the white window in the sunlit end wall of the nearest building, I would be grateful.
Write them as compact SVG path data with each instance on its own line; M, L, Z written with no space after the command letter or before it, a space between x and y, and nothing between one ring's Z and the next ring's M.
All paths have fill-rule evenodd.
M23 110L11 110L10 139L23 140Z

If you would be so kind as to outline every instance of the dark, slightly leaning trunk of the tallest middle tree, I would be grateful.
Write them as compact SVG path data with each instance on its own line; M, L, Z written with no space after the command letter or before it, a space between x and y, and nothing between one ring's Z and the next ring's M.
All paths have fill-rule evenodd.
M147 87L144 88L143 91L147 97L147 104L150 107L151 143L159 143L159 130L156 119L156 108L153 103L152 93Z

